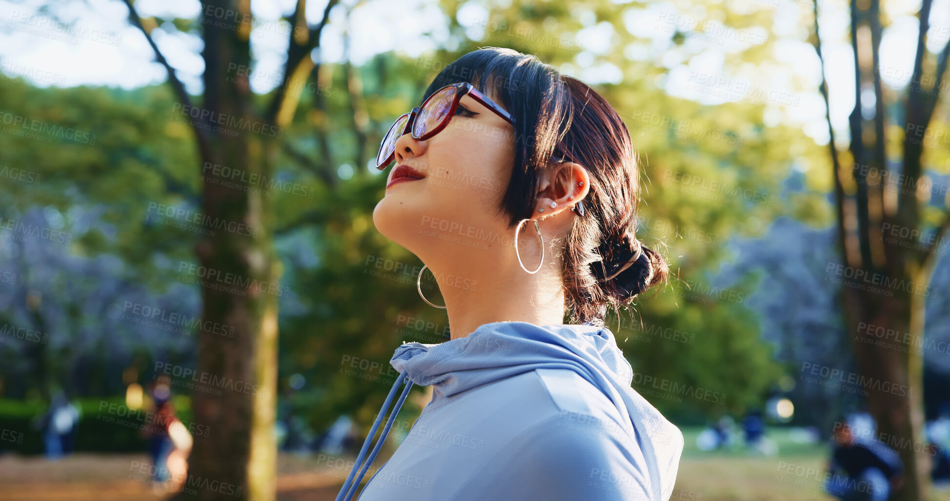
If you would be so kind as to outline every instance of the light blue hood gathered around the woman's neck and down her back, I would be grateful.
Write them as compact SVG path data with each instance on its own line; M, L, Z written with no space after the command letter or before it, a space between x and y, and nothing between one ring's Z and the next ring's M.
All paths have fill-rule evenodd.
M636 429L650 465L655 499L668 499L675 484L682 434L631 387L633 368L606 327L485 323L467 337L437 344L404 342L390 365L418 385L433 387L430 404L504 377L535 369L569 369L598 387ZM657 441L658 437L674 438ZM665 445L660 445L665 444Z

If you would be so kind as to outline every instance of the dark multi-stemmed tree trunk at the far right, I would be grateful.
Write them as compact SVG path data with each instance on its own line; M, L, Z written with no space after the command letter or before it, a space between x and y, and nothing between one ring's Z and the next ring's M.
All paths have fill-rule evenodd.
M922 0L919 19L918 47L914 63L914 76L920 78L924 59L924 40L927 32L927 20L932 0ZM864 280L844 280L841 290L845 313L845 325L848 329L855 363L858 366L858 388L865 396L868 410L877 421L876 438L900 454L903 464L902 486L892 493L891 499L900 501L921 501L930 496L931 455L924 447L923 436L923 378L921 342L923 339L924 306L932 276L933 253L912 251L907 245L911 242L890 242L885 228L909 228L922 231L920 208L916 190L899 189L897 207L886 203L884 189L895 189L889 179L889 165L885 162L885 110L881 87L879 48L882 38L879 0L859 2L851 0L851 48L854 58L855 106L849 117L851 144L849 147L852 167L850 174L839 162L835 146L834 129L831 126L828 106L827 82L824 59L822 57L821 37L818 29L818 3L812 6L814 13L814 45L822 61L821 92L825 99L826 121L830 142L828 144L832 179L835 186L835 208L837 209L837 233L841 262L849 272L857 275L863 272ZM859 29L866 27L870 40L859 43ZM869 41L870 44L866 42ZM940 88L943 73L947 67L950 44L940 53L936 71L936 85ZM864 56L864 57L862 57ZM869 57L868 57L869 56ZM864 130L864 118L861 109L862 84L874 88L876 105L873 129ZM904 101L905 114L901 125L927 125L933 113L936 98L929 93L910 91ZM899 113L900 115L900 113ZM900 120L900 119L899 119ZM921 181L921 143L903 142L903 163L901 174L915 184ZM870 167L881 173L875 179L869 179L866 169ZM847 184L853 184L856 192L845 195ZM950 227L950 217L944 216L938 226L936 241ZM932 249L931 249L932 250ZM928 256L929 254L929 256ZM866 280L872 277L871 281ZM913 292L901 287L881 286L881 279L887 283L909 284ZM876 286L885 292L870 291L863 288ZM885 333L882 338L880 333ZM895 333L886 337L886 333ZM848 385L850 386L850 385Z

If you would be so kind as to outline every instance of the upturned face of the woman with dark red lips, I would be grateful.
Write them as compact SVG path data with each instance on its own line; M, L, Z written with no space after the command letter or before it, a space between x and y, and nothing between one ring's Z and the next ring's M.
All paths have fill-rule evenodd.
M464 96L441 132L427 141L405 134L396 142L386 196L372 212L373 223L431 267L447 264L440 261L445 257L471 264L490 260L493 251L510 247L514 236L498 210L511 178L514 144L511 124ZM399 165L425 179L390 186Z

